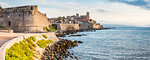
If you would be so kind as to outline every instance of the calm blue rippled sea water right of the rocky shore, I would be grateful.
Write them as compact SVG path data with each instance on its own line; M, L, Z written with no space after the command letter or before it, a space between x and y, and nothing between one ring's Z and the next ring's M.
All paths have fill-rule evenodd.
M83 44L70 51L79 60L150 60L150 28L116 27L116 29L79 32Z

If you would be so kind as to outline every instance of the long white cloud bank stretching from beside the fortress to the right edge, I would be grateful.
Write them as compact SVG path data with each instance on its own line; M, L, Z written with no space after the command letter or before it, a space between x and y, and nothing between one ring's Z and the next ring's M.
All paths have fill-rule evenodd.
M58 17L85 14L88 10L91 18L99 23L111 23L134 26L147 26L150 24L150 10L140 6L130 5L122 2L97 2L93 6L80 5L76 2L58 2L51 4L58 7L39 7L40 11L47 13L48 17ZM75 4L70 4L75 3ZM79 5L78 5L79 4ZM49 5L48 5L49 6ZM61 7L61 8L60 8ZM103 24L103 23L102 23Z

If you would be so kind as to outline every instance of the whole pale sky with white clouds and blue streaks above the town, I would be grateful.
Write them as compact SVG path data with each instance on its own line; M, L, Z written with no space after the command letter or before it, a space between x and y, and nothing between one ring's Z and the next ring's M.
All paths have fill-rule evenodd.
M3 8L38 5L48 18L90 12L101 24L150 27L150 0L0 0Z

